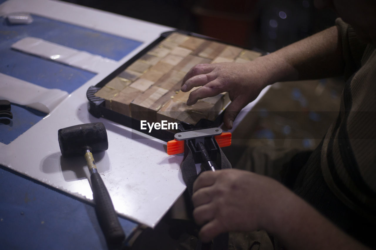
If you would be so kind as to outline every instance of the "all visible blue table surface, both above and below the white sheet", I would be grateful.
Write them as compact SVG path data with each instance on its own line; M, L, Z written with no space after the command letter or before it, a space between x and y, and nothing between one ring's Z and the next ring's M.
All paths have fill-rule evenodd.
M142 44L32 17L34 21L29 25L11 25L0 18L0 72L47 88L71 93L95 74L12 50L14 42L33 36L114 60L120 60ZM4 144L11 143L46 115L21 105L11 106L14 116L11 123L0 123L0 142ZM138 226L119 218L127 236ZM0 248L103 249L106 243L91 203L0 166Z

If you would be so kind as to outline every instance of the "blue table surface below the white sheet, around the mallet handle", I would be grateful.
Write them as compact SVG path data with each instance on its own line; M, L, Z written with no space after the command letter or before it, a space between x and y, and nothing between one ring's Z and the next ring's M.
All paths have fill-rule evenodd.
M94 206L0 165L0 248L105 249ZM119 217L127 236L138 226Z

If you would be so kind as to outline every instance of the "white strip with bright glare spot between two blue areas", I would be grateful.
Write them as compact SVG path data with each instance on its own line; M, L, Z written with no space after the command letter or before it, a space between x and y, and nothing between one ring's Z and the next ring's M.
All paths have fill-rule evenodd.
M94 55L86 51L75 50L34 37L23 38L15 42L12 48L94 73L113 69L116 63L115 60L106 57Z

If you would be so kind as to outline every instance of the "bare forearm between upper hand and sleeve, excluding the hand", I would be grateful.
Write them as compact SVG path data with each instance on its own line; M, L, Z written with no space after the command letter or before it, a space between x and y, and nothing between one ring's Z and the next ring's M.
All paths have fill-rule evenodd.
M333 26L256 60L269 72L270 83L318 79L343 74L341 50Z

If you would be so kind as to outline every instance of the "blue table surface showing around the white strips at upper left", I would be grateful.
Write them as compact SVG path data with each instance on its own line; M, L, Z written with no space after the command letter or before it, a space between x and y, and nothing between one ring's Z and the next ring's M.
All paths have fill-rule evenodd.
M49 18L36 15L32 18L31 24L9 24L6 18L0 17L0 73L49 89L71 93L95 74L13 50L12 44L33 36L114 60L120 60L142 44ZM0 123L0 142L5 144L11 143L46 115L17 105L12 105L11 111L14 116L11 123Z

